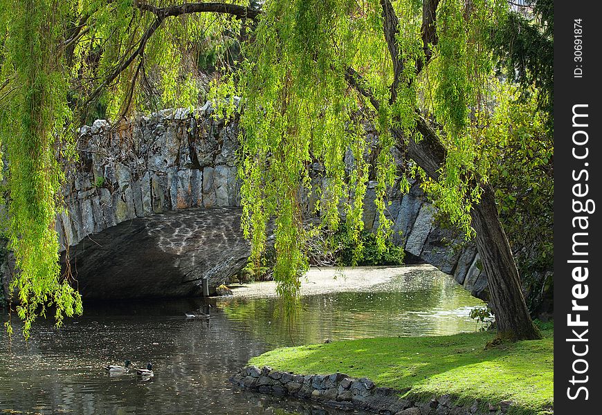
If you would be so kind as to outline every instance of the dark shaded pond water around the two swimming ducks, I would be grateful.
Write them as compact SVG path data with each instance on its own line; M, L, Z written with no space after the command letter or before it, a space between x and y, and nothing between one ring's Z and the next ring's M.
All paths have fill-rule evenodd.
M186 320L184 311L196 309L190 305L170 302L113 305L104 311L95 308L91 317L67 322L60 331L51 323L36 326L28 344L15 337L12 353L8 353L6 339L0 338L0 410L316 413L311 407L298 410L302 404L283 407L276 400L243 393L230 385L228 377L267 347L216 308L209 321ZM102 364L125 358L136 365L151 360L154 380L141 382L131 374L109 376L102 369Z

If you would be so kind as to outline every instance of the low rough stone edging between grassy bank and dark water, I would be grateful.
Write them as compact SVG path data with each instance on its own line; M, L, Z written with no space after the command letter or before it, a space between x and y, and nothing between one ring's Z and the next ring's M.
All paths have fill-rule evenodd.
M338 409L361 409L374 414L387 415L499 415L505 414L513 404L502 400L498 405L489 405L489 410L480 409L482 403L475 400L472 405L457 406L450 395L430 400L400 398L403 393L388 387L376 387L368 378L352 378L345 374L298 375L275 371L264 366L248 366L230 377L235 385L257 391L260 394L290 396L313 400Z

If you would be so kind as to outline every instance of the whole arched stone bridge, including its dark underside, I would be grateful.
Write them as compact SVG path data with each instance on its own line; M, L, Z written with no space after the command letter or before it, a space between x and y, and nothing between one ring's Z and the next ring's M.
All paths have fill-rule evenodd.
M237 126L211 112L208 103L116 128L104 120L82 127L80 160L69 168L64 187L66 213L56 223L63 258L69 251L84 297L200 295L203 279L214 291L245 266L250 247L239 227ZM312 176L320 185L319 165ZM365 200L368 230L377 225L374 184ZM419 186L408 194L392 190L389 199L394 242L408 257L484 295L475 249L450 248L462 238L433 225L434 209Z

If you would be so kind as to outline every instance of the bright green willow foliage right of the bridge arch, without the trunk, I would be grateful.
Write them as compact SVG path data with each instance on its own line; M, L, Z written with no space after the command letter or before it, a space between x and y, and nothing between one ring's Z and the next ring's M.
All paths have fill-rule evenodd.
M467 234L473 232L469 212L480 196L475 178L487 181L495 160L495 151L484 147L495 84L493 60L484 42L487 28L506 16L507 5L495 0L441 1L439 43L431 45L433 57L419 75L416 63L426 59L419 35L421 1L393 5L400 19L397 41L404 65L395 98L383 9L375 0L266 2L255 39L244 48L247 59L240 82L217 94L242 97L243 227L258 260L266 245L267 223L275 219L275 280L289 316L298 302L299 277L307 268L302 246L311 231L302 227L298 199L300 192L312 191L307 166L313 161L325 165L329 178L316 207L322 225L336 230L343 210L347 229L359 243L368 181L363 122L372 122L379 133L376 205L381 247L392 224L385 216L386 190L394 185L395 174L391 149L396 143L390 130L400 129L419 140L417 111L437 120L448 148L441 179L428 182L428 190L437 196L441 210ZM378 109L349 86L348 68L363 77L365 89L380 102ZM231 104L227 111L232 111ZM347 177L349 152L355 169ZM407 189L408 182L401 185Z

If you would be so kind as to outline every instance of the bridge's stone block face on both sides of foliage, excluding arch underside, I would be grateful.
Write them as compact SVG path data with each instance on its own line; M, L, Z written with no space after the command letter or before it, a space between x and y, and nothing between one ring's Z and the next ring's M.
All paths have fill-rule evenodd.
M237 124L215 119L212 112L208 102L194 111L166 109L116 127L105 120L82 127L76 142L79 160L69 167L63 189L65 212L56 221L62 250L136 218L188 208L239 207ZM374 131L367 131L367 141L375 140ZM352 157L345 160L351 169ZM323 170L314 163L314 187L325 185ZM367 230L378 228L375 187L376 182L368 183L364 201ZM313 198L304 195L307 212ZM408 194L390 190L389 201L386 214L394 222L394 243L453 275L473 295L486 295L474 247L453 248L462 237L435 226L435 211L419 183Z

